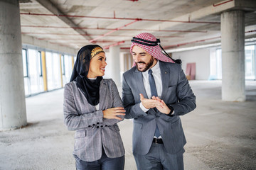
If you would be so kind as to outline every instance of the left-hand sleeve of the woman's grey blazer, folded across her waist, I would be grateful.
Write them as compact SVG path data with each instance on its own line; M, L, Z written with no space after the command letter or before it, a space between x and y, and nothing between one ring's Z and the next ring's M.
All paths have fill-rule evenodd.
M95 111L93 113L81 114L78 113L75 107L75 100L73 96L73 89L70 84L66 84L64 88L64 122L68 130L80 130L87 128L89 125L102 123L102 111Z

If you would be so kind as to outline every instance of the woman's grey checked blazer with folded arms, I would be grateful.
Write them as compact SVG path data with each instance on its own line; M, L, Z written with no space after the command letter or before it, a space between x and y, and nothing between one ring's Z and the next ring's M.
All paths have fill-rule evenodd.
M102 156L102 147L107 157L124 155L124 145L119 133L117 119L105 119L107 108L123 107L117 86L112 79L100 83L100 108L90 105L78 89L75 81L65 84L64 118L68 130L76 130L73 154L85 162L96 161ZM124 116L119 116L124 119Z

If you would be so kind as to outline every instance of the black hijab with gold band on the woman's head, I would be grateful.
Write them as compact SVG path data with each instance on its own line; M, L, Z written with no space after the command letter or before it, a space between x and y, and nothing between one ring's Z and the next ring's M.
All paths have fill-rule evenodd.
M100 81L102 77L97 77L95 81L87 78L90 60L100 52L104 52L99 45L86 45L78 51L70 81L76 81L77 86L85 95L87 101L96 106L100 102Z

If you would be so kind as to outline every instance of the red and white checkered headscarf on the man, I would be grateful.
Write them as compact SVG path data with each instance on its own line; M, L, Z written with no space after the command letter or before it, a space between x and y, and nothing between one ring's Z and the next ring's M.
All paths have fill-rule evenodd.
M143 40L156 42L156 37L154 35L151 35L151 33L140 33L139 35L136 35L135 38L140 38ZM137 40L137 41L143 42L141 40ZM131 53L132 53L132 48L134 47L134 45L138 45L139 47L142 47L146 52L149 53L149 55L152 55L157 60L160 60L162 62L173 62L174 63L174 60L171 60L171 58L167 57L166 55L164 55L161 52L160 45L148 46L148 45L139 44L137 42L132 42L132 45L130 48ZM135 63L134 63L134 65L135 65Z

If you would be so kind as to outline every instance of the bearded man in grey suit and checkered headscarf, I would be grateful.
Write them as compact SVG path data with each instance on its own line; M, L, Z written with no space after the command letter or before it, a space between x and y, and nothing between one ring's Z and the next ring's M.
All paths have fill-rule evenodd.
M180 115L196 108L181 64L161 52L150 33L132 39L136 67L123 74L125 118L134 118L133 154L138 170L183 169L186 139Z

